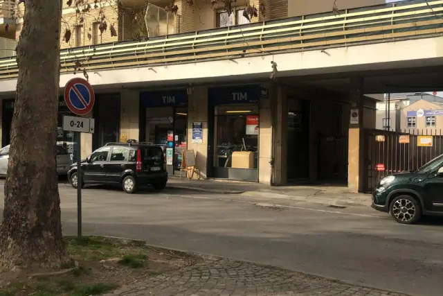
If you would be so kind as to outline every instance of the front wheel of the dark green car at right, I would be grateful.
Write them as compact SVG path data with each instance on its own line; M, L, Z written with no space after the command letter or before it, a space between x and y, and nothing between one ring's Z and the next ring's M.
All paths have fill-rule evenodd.
M399 195L390 202L389 212L398 223L415 224L422 218L422 205L411 195Z

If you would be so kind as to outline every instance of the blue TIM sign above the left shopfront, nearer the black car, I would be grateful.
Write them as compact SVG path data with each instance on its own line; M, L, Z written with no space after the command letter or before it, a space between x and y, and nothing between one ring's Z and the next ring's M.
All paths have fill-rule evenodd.
M145 107L186 106L188 105L188 94L186 94L186 89L142 92L140 101Z

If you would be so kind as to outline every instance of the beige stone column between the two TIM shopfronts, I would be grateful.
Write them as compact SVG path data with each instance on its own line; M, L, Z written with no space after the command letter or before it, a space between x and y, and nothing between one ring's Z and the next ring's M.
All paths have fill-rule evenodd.
M192 123L201 122L203 127L203 143L192 143ZM188 150L193 149L196 155L197 173L201 179L206 179L208 164L208 88L195 87L188 95Z

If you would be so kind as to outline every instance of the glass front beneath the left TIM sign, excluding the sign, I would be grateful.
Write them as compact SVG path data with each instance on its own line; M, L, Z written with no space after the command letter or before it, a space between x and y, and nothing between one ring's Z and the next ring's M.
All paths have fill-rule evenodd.
M168 173L179 175L188 147L188 108L146 108L146 141L163 149Z

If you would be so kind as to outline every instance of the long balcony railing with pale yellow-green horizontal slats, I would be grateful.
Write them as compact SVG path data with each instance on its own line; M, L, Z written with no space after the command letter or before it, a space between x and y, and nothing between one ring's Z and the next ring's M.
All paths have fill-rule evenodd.
M61 73L240 58L442 35L443 0L407 1L61 51ZM0 59L0 79L17 76Z

